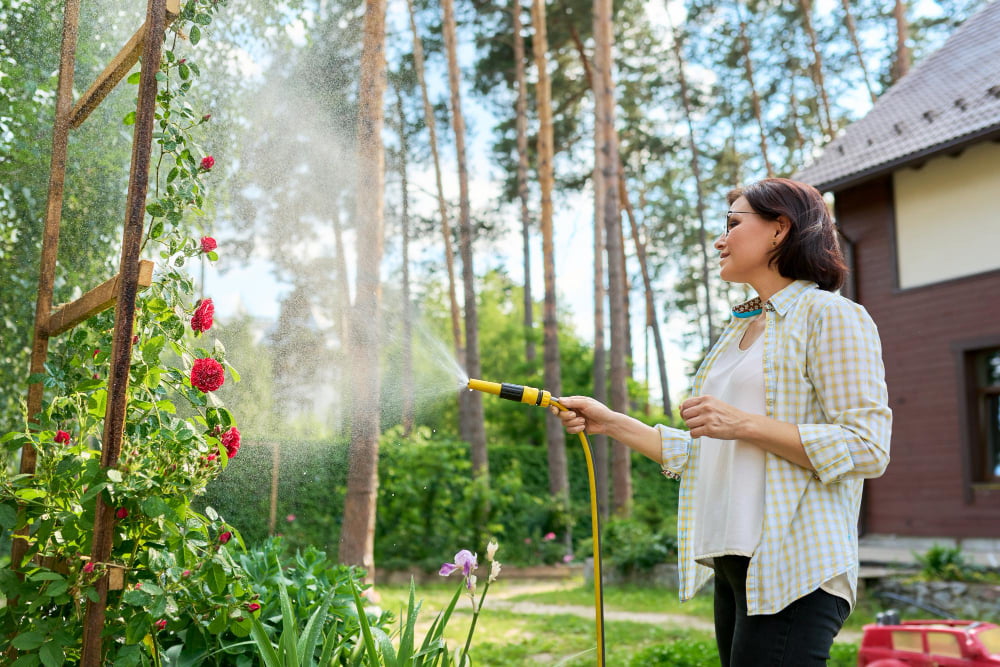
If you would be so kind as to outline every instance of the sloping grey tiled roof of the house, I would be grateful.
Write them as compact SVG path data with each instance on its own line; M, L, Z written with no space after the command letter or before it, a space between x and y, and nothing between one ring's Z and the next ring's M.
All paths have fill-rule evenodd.
M841 190L990 137L1000 137L1000 0L968 18L794 178Z

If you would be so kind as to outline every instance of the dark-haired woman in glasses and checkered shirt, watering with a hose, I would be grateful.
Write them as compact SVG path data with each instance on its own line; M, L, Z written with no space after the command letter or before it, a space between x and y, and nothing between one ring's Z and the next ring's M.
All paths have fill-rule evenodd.
M770 178L729 194L715 241L736 306L680 416L646 426L561 398L570 433L604 433L680 478L682 600L715 575L723 665L822 665L856 599L862 480L889 462L875 324L834 294L846 275L820 193Z

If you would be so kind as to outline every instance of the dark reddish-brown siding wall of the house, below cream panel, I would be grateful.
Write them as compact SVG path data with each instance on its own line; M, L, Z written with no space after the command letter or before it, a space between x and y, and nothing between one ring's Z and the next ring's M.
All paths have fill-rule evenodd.
M1000 272L899 290L892 200L889 178L836 196L838 222L855 244L858 301L882 336L893 409L891 463L866 484L865 530L996 537L1000 489L970 489L963 471L964 412L952 345L1000 336ZM941 222L957 225L960 218Z

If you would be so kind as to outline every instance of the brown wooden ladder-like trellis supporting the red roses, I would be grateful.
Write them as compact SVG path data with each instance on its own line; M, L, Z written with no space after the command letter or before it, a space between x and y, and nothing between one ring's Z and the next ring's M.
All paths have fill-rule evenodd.
M108 373L108 401L101 440L101 467L118 465L125 427L129 366L132 359L132 329L135 299L140 288L152 281L153 263L140 261L146 191L152 152L153 122L156 110L156 73L160 68L166 28L180 15L180 0L147 0L146 20L125 44L76 104L73 104L73 68L79 33L80 0L66 0L63 14L63 36L59 58L59 83L56 89L55 123L52 128L52 160L49 167L48 208L42 240L42 261L38 277L38 301L35 306L35 329L31 348L31 373L45 370L49 339L68 331L87 318L114 306L115 320ZM59 249L59 227L62 220L63 186L69 132L78 128L96 109L136 62L142 61L139 100L136 107L135 130L132 138L132 166L129 172L128 196L125 205L125 228L122 234L121 261L118 274L90 290L76 301L52 309L52 292ZM34 418L42 408L43 385L36 382L28 388L28 416ZM25 445L21 450L21 472L34 474L35 450ZM23 511L23 510L22 510ZM20 571L28 549L27 527L17 531L11 548L11 567ZM114 532L112 508L97 497L94 517L91 562L103 563L111 555ZM117 568L106 568L116 571ZM98 599L88 601L84 619L81 664L98 667L102 664L101 633L107 607L109 575L107 571L96 581Z

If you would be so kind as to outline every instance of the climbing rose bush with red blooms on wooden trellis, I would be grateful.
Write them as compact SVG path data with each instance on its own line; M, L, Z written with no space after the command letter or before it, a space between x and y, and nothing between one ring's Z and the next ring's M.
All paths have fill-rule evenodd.
M224 4L184 3L157 74L160 155L144 239L144 254L158 253L157 271L137 298L118 466L100 465L111 310L52 340L46 372L28 378L45 387L41 412L0 436L9 455L26 446L37 454L34 475L0 469L0 526L24 531L28 543L17 572L0 569L6 599L0 652L16 650L17 664L79 661L85 611L105 575L118 582L108 593L105 664L218 664L229 647L245 645L259 613L234 560L243 548L239 533L211 508L199 513L191 505L239 450L236 419L211 393L227 376L239 376L220 344L199 346L214 306L211 299L192 303L194 284L184 267L195 258L218 258L215 239L195 233L194 222L203 215L203 179L216 161L193 134L210 115L184 99L198 67L191 56L177 58L174 48L179 35L196 45ZM134 122L134 113L124 119ZM99 497L114 516L105 563L90 560Z

